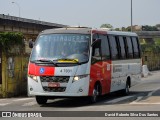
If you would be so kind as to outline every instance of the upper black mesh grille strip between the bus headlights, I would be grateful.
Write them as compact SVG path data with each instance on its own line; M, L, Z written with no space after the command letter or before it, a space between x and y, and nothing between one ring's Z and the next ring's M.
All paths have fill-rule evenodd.
M69 76L40 76L41 82L68 83Z

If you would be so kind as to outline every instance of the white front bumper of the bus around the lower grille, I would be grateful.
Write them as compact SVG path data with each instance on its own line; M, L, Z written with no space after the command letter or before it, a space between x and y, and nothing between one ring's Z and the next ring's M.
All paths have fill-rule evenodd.
M28 96L59 96L59 97L80 97L88 96L89 91L89 75L86 78L82 78L78 81L72 82L73 77L69 78L68 83L60 83L61 87L66 87L63 92L52 92L44 90L44 85L47 82L42 83L40 77L37 77L37 81L28 77Z

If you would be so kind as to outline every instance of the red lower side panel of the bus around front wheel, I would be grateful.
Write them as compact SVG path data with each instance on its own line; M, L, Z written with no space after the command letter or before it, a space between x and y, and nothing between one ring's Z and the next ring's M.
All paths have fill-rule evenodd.
M111 61L97 62L91 65L89 96L92 95L96 82L102 88L102 95L110 92L111 88Z

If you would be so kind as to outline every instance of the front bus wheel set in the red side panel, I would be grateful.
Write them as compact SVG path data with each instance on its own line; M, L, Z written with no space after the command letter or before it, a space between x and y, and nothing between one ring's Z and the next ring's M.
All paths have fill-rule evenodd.
M97 98L98 98L98 95L99 95L98 90L99 90L99 85L97 84L97 85L94 86L93 94L90 97L91 103L96 103L97 102Z

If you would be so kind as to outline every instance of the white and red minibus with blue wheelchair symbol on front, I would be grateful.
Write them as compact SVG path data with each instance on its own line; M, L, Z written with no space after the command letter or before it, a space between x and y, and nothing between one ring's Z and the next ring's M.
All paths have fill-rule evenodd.
M38 104L50 98L101 95L129 88L141 79L136 33L87 27L42 31L28 64L28 95Z

